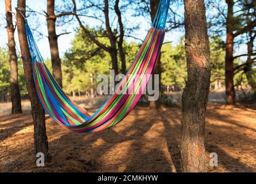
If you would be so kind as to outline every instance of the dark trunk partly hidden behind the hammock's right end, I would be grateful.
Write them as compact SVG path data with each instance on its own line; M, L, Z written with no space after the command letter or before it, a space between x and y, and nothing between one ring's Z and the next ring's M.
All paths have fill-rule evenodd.
M150 16L151 21L154 21L155 14L157 13L157 8L159 5L159 0L150 0ZM159 98L156 101L150 101L150 108L158 109L161 106L161 56L158 57L157 65L155 66L154 74L159 75ZM154 86L154 77L152 78L152 83Z

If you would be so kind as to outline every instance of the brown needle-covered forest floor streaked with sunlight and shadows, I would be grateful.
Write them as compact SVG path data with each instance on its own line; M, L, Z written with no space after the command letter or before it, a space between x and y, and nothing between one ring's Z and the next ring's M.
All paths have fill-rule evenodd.
M90 112L94 112L91 109ZM137 107L115 127L91 134L68 131L46 116L50 163L37 167L29 113L0 116L0 171L180 172L180 108ZM207 107L209 172L256 172L256 104ZM218 166L209 165L210 153Z

